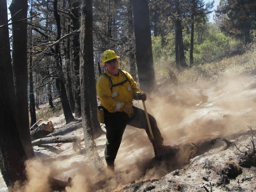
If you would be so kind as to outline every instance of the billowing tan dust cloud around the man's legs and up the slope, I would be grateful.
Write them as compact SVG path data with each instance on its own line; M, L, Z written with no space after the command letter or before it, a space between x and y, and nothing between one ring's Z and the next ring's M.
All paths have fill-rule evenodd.
M224 137L236 131L247 131L256 115L256 79L239 76L215 82L169 84L148 96L148 113L157 120L164 144L183 146L175 161L186 163L186 143L197 143L211 137ZM143 108L139 102L138 106ZM101 149L104 150L104 149ZM184 153L186 151L186 153ZM116 172L98 172L87 158L71 160L29 160L28 180L17 192L50 192L49 177L67 181L67 192L112 191L129 183L157 179L177 169L171 160L154 160L153 147L143 129L128 126L116 157ZM102 161L105 163L104 158ZM170 163L171 162L171 163Z

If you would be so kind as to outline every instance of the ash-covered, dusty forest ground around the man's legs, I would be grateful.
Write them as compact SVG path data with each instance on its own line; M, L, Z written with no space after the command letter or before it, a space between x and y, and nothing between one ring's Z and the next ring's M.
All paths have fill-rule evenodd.
M161 160L143 129L128 126L116 157L115 173L97 172L84 151L73 143L34 146L36 158L26 162L24 192L50 192L48 178L67 181L67 192L93 191L256 191L256 76L229 76L213 82L158 84L159 92L145 102L154 115L169 151ZM143 108L141 102L135 102ZM47 106L46 106L47 108ZM52 121L53 135L83 138L80 122L65 124L64 115ZM102 125L104 130L104 125ZM229 140L230 145L223 141ZM256 140L256 137L254 137ZM106 137L96 148L105 165ZM241 152L236 148L239 148ZM247 153L242 153L247 151ZM0 192L7 191L0 175Z

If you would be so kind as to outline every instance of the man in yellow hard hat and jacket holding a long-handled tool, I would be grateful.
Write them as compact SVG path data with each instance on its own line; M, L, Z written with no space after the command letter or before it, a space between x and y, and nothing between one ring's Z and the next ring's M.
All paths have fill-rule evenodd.
M107 167L111 170L114 170L114 161L126 125L145 129L149 140L151 140L145 111L133 106L133 99L145 101L146 94L138 89L137 83L128 72L118 69L119 58L113 50L108 49L103 52L102 64L106 67L106 71L96 83L96 91L103 107L107 131L105 160ZM155 145L160 148L163 146L163 137L154 117L150 114L148 116Z

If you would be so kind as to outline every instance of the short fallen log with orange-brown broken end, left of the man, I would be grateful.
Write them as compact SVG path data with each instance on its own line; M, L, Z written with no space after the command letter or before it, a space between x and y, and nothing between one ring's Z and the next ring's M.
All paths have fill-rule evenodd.
M31 140L36 140L42 137L45 137L46 135L48 135L49 133L53 132L53 125L52 122L49 121L47 122L47 124L42 124L40 126L38 126L37 128L34 128L31 132Z

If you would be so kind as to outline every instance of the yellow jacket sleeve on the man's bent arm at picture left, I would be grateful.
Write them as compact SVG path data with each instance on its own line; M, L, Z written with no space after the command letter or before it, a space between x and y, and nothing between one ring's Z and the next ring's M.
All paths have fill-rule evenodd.
M96 83L96 91L102 106L109 112L114 113L123 110L125 104L111 97L110 82L105 76L99 77Z

